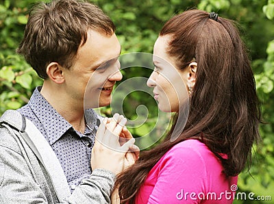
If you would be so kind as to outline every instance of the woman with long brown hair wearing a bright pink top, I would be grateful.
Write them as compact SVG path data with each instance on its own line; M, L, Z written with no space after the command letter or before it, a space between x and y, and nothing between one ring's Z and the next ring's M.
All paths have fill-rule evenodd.
M121 203L232 203L237 175L260 140L255 81L238 29L214 12L188 10L164 25L153 55L147 85L160 110L176 115L165 140L117 178ZM172 66L164 62L180 79L170 77ZM172 140L185 104L178 80L190 107Z

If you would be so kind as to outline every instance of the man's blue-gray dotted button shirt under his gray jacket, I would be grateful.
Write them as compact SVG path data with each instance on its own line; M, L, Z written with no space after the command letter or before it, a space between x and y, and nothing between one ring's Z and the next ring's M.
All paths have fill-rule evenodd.
M91 149L101 116L92 109L86 110L86 131L84 134L80 133L42 97L40 89L41 87L37 87L34 90L29 103L18 112L32 120L45 136L58 157L73 192L82 179L90 177Z

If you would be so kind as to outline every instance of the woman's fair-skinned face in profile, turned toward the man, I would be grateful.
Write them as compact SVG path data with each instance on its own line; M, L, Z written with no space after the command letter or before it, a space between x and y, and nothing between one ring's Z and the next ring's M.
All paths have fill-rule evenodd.
M186 82L188 70L175 68L176 59L166 53L170 36L160 36L153 50L153 64L147 86L153 87L154 99L158 101L158 107L163 112L179 112L180 104L188 99Z

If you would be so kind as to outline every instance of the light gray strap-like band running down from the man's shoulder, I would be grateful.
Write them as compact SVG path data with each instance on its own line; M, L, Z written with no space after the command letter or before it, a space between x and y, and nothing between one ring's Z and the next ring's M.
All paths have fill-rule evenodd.
M16 110L6 111L1 117L0 123L5 123L15 128L32 151L34 151L35 155L49 173L53 188L60 203L64 202L66 198L71 196L66 176L64 175L64 171L58 158L34 123L22 116Z

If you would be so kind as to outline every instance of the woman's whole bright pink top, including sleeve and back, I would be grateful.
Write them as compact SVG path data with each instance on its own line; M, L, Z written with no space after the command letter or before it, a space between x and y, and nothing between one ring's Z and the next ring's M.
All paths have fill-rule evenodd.
M232 203L238 177L227 178L222 170L206 144L180 142L151 169L136 203Z

